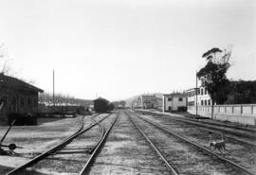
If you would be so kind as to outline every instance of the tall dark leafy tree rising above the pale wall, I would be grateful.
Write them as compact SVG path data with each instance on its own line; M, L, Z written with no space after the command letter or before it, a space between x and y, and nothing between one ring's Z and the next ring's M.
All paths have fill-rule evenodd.
M229 94L229 79L226 73L230 67L229 58L231 51L221 50L213 47L203 54L208 62L197 73L198 79L202 81L202 85L208 90L211 103L211 118L213 119L214 103L223 104L228 99Z

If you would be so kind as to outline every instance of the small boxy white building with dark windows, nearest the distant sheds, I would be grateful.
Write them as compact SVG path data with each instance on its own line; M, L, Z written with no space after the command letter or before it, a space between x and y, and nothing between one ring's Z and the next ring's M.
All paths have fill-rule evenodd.
M187 106L186 95L180 93L163 95L163 113L179 111Z

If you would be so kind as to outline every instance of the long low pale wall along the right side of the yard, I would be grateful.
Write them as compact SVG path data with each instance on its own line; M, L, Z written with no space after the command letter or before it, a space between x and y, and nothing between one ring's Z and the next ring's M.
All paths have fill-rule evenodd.
M190 114L196 114L195 106L188 106ZM198 106L197 114L211 117L211 106ZM256 104L214 105L213 119L256 125Z

